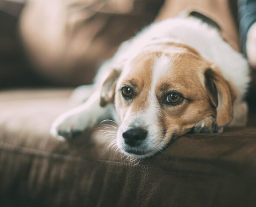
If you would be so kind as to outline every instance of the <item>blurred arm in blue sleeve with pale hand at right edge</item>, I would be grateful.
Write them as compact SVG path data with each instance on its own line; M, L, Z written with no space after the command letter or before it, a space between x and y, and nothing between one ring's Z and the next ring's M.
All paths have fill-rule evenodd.
M256 0L238 0L238 17L243 53L256 68Z

